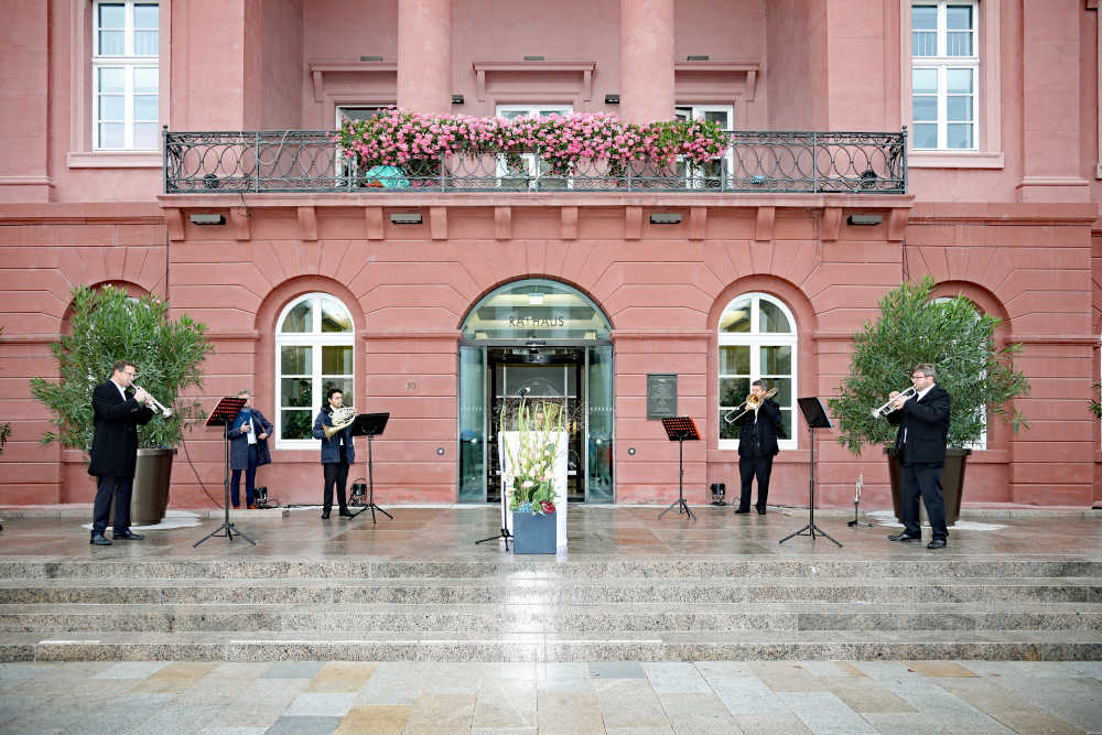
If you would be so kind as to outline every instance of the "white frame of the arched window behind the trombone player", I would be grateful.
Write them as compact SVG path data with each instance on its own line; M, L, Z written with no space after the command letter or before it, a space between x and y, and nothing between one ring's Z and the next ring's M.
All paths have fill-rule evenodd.
M727 313L727 310L731 309L731 306L735 302L746 298L750 299L749 318L750 318L752 331L746 333L722 332L720 328L720 323L723 322L723 315ZM768 301L774 306L780 310L780 312L785 315L785 317L788 318L788 323L792 327L791 332L757 332L757 324L759 323L759 314L760 314L760 303L763 300ZM769 293L765 293L761 291L747 291L745 293L739 293L734 298L732 298L731 300L728 300L726 305L723 307L723 311L720 312L720 321L716 324L716 334L717 334L717 341L716 341L717 344L715 352L716 354L715 401L716 406L719 407L720 422L723 422L724 420L723 417L727 413L727 411L731 410L731 407L724 408L723 404L720 403L720 400L722 399L722 390L720 386L722 383L723 378L726 377L726 374L722 372L723 359L722 357L720 357L721 350L724 347L730 347L730 346L749 346L750 348L749 382L753 385L755 380L763 379L761 360L760 360L761 347L785 347L785 346L791 347L792 364L791 364L791 372L788 376L792 381L792 393L790 397L791 402L788 406L781 406L780 408L788 409L790 411L790 414L792 417L792 423L791 423L792 431L791 435L788 439L778 437L777 445L781 451L798 450L799 432L797 431L797 428L799 423L797 418L798 412L797 412L796 398L799 393L799 368L800 368L799 326L797 325L796 315L792 313L792 310L788 306L788 304L786 304L779 298L774 296L773 294ZM764 379L766 381L771 381L775 380L777 377L778 376L766 376ZM739 440L723 439L722 429L723 429L722 423L721 425L716 426L717 448L736 451L738 448Z

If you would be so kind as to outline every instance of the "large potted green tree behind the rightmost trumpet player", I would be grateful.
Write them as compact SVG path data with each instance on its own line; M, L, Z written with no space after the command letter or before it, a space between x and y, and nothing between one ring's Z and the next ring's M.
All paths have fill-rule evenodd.
M880 444L888 456L892 500L899 516L899 466L893 444L896 426L873 415L894 390L908 387L911 369L921 363L937 368L937 382L949 391L949 450L941 485L950 523L960 516L961 488L971 447L983 436L987 420L996 414L1014 431L1028 428L1022 414L1007 403L1029 392L1029 382L1014 368L1013 356L1022 345L995 346L1000 320L980 314L958 294L930 298L933 279L903 283L880 300L880 316L866 322L853 336L850 375L839 386L839 396L828 401L838 419L838 440L860 454L866 444Z

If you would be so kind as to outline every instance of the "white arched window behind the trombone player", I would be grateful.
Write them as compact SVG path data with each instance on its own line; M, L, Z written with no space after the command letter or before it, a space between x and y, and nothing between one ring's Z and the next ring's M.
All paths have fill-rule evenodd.
M720 316L720 447L738 446L739 428L724 421L764 380L776 388L787 439L780 447L795 450L796 431L796 320L782 302L765 293L744 293ZM734 417L732 417L734 418Z

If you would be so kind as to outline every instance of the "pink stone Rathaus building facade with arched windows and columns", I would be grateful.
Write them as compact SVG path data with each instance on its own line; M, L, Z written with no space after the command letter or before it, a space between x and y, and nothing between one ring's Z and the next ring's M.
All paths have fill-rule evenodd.
M1000 338L1023 344L1017 364L1033 387L1015 403L1031 429L992 423L965 501L1102 501L1088 406L1102 333L1092 0L13 0L4 10L0 423L12 433L0 505L94 496L79 452L39 443L48 415L29 390L31 377L56 376L48 344L67 328L78 283L153 293L208 325L201 400L256 392L278 429L274 466L258 483L284 502L318 499L303 422L331 385L358 410L391 414L374 444L381 502L493 499L493 417L525 389L576 408L572 499L669 502L678 447L648 418L648 386L676 385L677 413L704 440L684 447L685 495L704 502L712 483L737 487L722 415L766 377L791 429L770 501L803 504L811 452L796 397L833 396L877 300L925 274L939 295L963 293L1003 320ZM433 187L363 188L325 136L302 143L304 131L388 105L707 118L764 131L774 153L803 150L812 132L828 141L906 126L906 155L871 143L888 153L867 169L851 162L839 186L792 167L760 185L761 171L739 167L763 150L755 143L704 186L687 176L518 187L496 171L483 187L437 174ZM214 142L208 131L234 136ZM839 161L869 150L845 140L823 145ZM900 186L862 186L867 172L882 184L894 172ZM296 177L311 183L288 183ZM210 505L199 480L220 485L219 436L187 434L174 506ZM864 502L889 507L878 448L855 458L827 432L817 441L820 505L852 502L863 475Z

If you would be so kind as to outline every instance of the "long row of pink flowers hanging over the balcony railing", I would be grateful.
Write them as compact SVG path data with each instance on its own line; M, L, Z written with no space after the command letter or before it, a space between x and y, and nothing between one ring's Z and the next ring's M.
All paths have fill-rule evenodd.
M343 155L360 167L400 166L447 158L504 155L510 166L525 153L539 153L549 173L566 176L583 162L606 162L608 175L623 175L629 162L659 169L678 160L704 163L723 155L728 134L709 120L624 123L604 112L565 116L477 118L422 115L398 108L367 120L349 120L334 137Z

